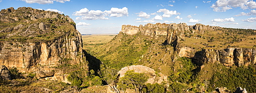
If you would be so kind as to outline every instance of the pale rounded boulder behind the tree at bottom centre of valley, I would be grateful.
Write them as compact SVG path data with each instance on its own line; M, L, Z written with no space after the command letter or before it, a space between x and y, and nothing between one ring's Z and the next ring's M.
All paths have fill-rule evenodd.
M150 77L148 78L148 80L146 81L146 83L159 83L161 84L162 81L167 81L167 76L163 75L162 73L158 73L158 75L156 74L156 71L145 67L145 66L141 66L141 65L136 65L136 66L127 66L122 68L120 71L118 71L118 74L120 74L120 77L124 76L124 73L126 73L126 71L131 71L134 70L135 73L146 73L146 74L150 74Z

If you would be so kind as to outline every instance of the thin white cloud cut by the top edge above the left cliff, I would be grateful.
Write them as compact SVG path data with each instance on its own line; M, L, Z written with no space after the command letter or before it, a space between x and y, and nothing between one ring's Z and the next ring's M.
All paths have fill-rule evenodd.
M37 4L53 4L53 2L65 3L70 2L70 0L19 0L24 1L28 4L37 3Z

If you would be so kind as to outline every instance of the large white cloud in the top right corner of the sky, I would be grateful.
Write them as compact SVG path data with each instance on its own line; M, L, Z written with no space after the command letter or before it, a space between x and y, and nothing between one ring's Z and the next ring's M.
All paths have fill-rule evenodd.
M212 4L211 8L214 8L215 12L225 12L232 8L240 7L243 10L255 9L256 2L253 0L218 0L215 4Z

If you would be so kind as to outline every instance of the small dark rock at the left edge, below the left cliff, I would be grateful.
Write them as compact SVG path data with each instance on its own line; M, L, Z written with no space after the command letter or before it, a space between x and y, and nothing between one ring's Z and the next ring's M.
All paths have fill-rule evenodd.
M1 79L5 79L5 80L10 80L11 79L11 73L10 73L10 71L8 70L8 68L7 67L5 67L4 65L2 65L1 67L0 67L1 69L0 69L0 78Z

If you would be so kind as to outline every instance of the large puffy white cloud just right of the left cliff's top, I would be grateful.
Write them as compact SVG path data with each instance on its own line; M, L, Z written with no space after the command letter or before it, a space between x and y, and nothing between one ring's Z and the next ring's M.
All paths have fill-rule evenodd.
M119 8L111 8L109 11L100 11L100 10L88 10L87 8L83 8L79 11L74 12L74 16L81 16L76 17L76 20L108 20L108 16L110 17L122 17L128 16L128 9L123 7L122 9Z

